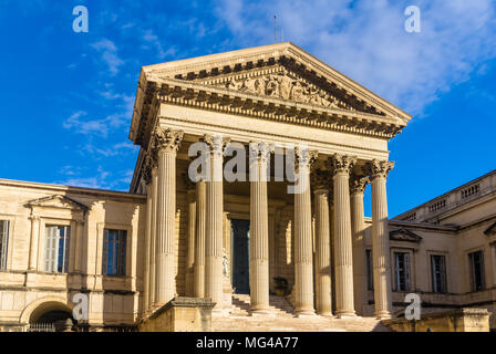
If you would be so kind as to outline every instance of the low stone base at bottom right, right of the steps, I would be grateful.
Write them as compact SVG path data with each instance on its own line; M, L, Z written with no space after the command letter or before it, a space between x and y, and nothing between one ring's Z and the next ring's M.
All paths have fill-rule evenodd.
M486 309L457 309L432 312L421 319L391 319L382 323L395 332L489 332L489 315Z

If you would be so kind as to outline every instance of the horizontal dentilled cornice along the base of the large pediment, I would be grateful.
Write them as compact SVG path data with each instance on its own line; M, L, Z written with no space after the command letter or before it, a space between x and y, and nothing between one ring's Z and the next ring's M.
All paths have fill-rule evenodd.
M149 83L154 88L148 90L148 94L157 100L154 101L154 97L149 97L146 100L149 103L167 103L383 139L392 138L405 126L391 117L364 112L296 103L183 80L154 80ZM149 131L148 113L151 110L151 107L143 110L141 116L144 118L143 122L133 119L130 138L135 144L146 144L145 135L146 131Z

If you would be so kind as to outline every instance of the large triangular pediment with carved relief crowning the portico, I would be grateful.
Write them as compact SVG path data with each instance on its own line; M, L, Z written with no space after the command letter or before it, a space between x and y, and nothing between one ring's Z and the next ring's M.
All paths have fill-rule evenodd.
M411 115L297 45L278 43L143 67L148 79L178 79L235 92L388 116Z

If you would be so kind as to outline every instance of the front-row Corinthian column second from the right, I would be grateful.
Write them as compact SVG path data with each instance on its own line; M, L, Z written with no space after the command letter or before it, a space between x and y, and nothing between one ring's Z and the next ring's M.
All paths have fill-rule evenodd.
M354 316L353 248L351 241L350 169L355 157L334 154L330 158L334 183L335 315Z

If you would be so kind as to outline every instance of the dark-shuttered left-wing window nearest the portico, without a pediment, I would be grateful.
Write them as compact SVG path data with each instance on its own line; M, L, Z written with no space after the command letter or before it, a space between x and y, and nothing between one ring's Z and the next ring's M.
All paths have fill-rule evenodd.
M102 273L126 274L126 230L104 230Z

